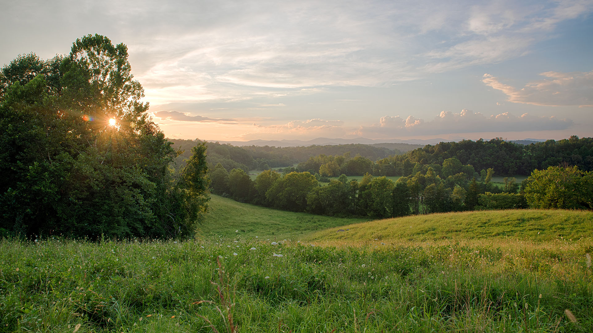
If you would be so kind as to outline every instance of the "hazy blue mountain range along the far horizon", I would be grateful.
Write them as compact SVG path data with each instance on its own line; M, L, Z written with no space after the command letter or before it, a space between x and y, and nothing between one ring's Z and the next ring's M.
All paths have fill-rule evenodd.
M355 139L329 139L327 137L318 137L317 139L313 140L249 140L249 141L217 141L217 140L208 140L211 142L220 142L220 143L230 143L233 146L275 146L275 147L297 147L297 146L324 146L324 145L349 145L352 143L362 143L364 145L376 145L377 143L407 143L409 145L436 145L439 142L451 142L451 141L460 141L463 138L458 138L457 140L447 140L447 139L428 139L428 140L421 140L421 139L409 139L409 140L401 140L401 139L366 139L365 137L356 137ZM521 145L530 145L531 143L546 141L543 139L524 139L524 140L509 140L510 142L519 143Z

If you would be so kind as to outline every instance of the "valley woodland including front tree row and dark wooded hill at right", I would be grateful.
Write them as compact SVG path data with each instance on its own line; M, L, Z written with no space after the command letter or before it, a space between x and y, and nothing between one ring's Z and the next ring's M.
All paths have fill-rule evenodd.
M499 138L488 142L464 140L427 145L375 162L361 155L352 157L349 152L322 154L296 168L283 168L282 174L267 169L254 181L244 169L227 171L218 163L209 176L212 193L265 207L329 216L385 218L528 207L592 209L592 142L591 138L576 136L529 146ZM477 163L476 156L487 153L499 159L484 157L491 164ZM476 162L482 169L467 161ZM521 184L514 177L493 184L497 171L492 166L502 168L505 175L517 172L517 165L523 169L533 166L530 177ZM356 175L364 177L348 179ZM393 181L386 176L401 177ZM327 185L321 186L320 182Z

